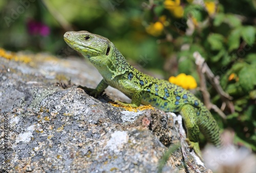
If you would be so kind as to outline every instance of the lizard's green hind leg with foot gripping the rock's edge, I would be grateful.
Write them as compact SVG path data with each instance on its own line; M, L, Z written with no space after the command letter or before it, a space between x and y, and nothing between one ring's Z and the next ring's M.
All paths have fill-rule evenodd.
M195 151L198 157L203 161L199 147L199 127L197 125L197 109L192 105L184 105L180 111L187 129L187 139L189 147Z

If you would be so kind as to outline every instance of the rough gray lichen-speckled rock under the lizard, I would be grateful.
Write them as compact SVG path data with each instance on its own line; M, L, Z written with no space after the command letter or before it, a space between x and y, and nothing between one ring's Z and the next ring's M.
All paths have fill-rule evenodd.
M108 102L130 100L111 87L98 98L77 88L96 87L101 80L89 62L16 56L29 60L0 57L1 171L157 172L167 146L180 142L174 114L114 107ZM187 145L185 152L184 161L176 150L163 172L194 172L184 166L187 161L207 171Z

